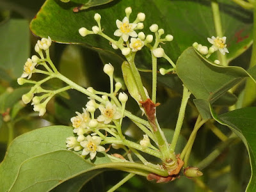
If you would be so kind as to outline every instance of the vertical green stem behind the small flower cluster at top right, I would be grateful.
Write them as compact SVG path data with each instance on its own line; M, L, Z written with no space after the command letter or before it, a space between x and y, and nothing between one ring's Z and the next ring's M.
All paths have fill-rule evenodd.
M211 6L212 6L212 15L213 15L213 20L214 20L216 35L223 37L222 27L221 27L221 18L220 18L220 8L219 8L219 4L218 4L217 0L212 0ZM220 51L218 51L218 58L222 65L224 65L224 66L228 65L227 57L225 55L221 54Z

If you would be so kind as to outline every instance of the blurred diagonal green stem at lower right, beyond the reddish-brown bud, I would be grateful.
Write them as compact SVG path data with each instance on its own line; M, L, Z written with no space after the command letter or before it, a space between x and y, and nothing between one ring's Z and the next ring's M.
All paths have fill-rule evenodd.
M237 140L236 134L234 132L228 137L228 139L222 142L220 145L217 146L215 150L209 154L209 156L205 157L200 163L196 165L200 170L204 169L205 167L209 166L218 156L220 156L221 152L225 150L225 148L230 147L230 144Z

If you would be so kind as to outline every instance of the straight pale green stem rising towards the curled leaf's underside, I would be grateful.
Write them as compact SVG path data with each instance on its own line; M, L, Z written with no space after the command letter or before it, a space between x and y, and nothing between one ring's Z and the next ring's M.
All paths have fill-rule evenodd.
M177 124L176 124L176 127L175 127L175 131L174 131L174 134L173 134L172 143L171 143L171 146L170 146L170 151L172 153L175 152L175 147L177 145L180 130L181 130L181 127L182 127L182 124L183 124L185 111L186 111L186 106L188 104L188 99L190 97L190 94L191 93L189 92L188 88L186 88L186 86L183 85L183 97L182 97L182 101L181 101L181 105L180 105L180 112L179 112Z

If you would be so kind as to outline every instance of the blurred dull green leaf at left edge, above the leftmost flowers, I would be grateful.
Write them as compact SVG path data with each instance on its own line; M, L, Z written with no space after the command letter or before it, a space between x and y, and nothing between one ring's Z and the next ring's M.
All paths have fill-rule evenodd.
M0 36L0 68L12 79L17 79L30 53L28 21L11 19L4 22L0 25Z

